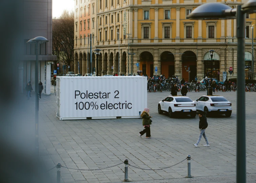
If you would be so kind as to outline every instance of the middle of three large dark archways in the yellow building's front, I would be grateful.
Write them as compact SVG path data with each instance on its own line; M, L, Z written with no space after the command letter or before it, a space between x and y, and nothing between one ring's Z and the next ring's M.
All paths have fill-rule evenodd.
M172 77L175 73L175 61L174 55L170 51L164 51L160 55L161 62L161 74L165 76L165 78Z

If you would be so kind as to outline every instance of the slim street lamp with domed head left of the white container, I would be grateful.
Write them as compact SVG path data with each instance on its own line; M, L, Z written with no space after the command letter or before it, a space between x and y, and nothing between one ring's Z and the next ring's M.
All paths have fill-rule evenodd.
M38 112L39 112L39 86L38 86L38 45L47 43L48 40L45 37L35 37L34 39L29 40L27 43L36 44L36 68L35 68L35 96L36 96L36 110L35 110L35 147L36 153L39 155L39 133L38 133Z

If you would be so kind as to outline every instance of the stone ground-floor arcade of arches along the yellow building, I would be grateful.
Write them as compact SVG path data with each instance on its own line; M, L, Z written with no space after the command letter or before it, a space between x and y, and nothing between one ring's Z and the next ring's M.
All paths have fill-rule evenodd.
M130 44L129 55L127 45L120 45L120 58L118 45L97 47L101 49L98 57L98 74L113 75L118 74L118 65L120 74L136 74L141 71L141 75L153 77L153 75L168 76L177 75L185 81L191 82L197 76L198 80L205 75L222 81L223 72L227 72L227 78L236 78L237 76L237 49L236 45L226 44L194 44L194 45L139 45ZM251 45L245 46L245 77L249 78L252 68ZM95 48L94 48L95 49ZM94 50L93 49L93 50ZM209 50L214 50L213 58ZM255 51L254 51L255 53ZM90 73L90 53L87 49L75 49L75 73ZM87 59L89 58L89 59ZM89 60L87 62L87 60ZM137 63L139 66L137 67ZM155 68L157 67L157 72ZM229 67L233 68L232 75L229 74ZM97 68L96 54L92 53L92 68ZM254 64L255 68L255 64ZM255 69L254 69L255 70ZM94 71L94 69L93 69ZM96 71L96 69L95 69Z

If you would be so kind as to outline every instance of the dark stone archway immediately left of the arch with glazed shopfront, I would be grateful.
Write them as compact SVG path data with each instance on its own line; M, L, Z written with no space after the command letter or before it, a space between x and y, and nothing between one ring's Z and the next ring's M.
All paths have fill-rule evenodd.
M182 78L185 81L191 82L197 75L196 54L193 51L185 51L182 56Z

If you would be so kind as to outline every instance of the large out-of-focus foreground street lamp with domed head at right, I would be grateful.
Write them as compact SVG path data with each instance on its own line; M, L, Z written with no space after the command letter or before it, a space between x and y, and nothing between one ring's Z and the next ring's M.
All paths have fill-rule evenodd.
M245 149L245 74L244 74L244 29L245 14L256 12L256 0L231 8L222 3L206 3L198 6L187 17L196 20L236 19L237 21L237 154L236 182L246 182L246 149Z

